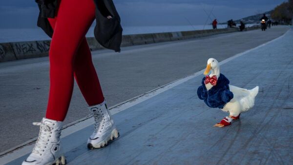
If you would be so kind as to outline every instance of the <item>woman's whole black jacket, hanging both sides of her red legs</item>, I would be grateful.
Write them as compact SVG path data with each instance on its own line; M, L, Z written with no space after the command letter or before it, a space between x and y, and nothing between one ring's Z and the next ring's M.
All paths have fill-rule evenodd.
M37 25L52 38L53 29L47 18L54 18L57 0L36 0L40 14ZM112 0L94 0L96 5L96 26L94 35L96 40L105 48L120 52L122 41L122 27L120 17ZM111 16L112 19L107 19Z

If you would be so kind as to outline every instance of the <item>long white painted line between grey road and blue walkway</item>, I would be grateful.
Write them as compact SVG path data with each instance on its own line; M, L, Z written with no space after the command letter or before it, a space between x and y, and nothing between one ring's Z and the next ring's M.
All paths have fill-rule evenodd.
M230 62L231 60L234 60L234 59L236 59L238 57L241 57L244 54L247 54L247 53L249 53L249 52L251 52L251 51L253 51L255 49L258 49L258 48L260 48L262 46L265 46L265 45L267 45L267 44L269 44L269 43L271 43L273 41L276 41L276 40L284 37L289 31L290 30L288 30L282 36L280 36L280 37L278 37L278 38L276 38L276 39L274 39L272 41L268 41L268 42L263 43L263 44L255 47L255 48L252 48L252 49L249 49L249 50L244 51L242 53L236 54L236 55L234 55L234 56L232 56L232 57L230 57L230 58L228 58L226 60L223 60L222 62L219 62L219 63L220 63L220 65L225 64L225 63ZM171 89L171 88L173 88L175 86L178 86L178 85L180 85L180 84L182 84L184 82L187 82L188 80L191 80L191 79L201 75L203 72L204 72L204 69L200 70L200 71L198 71L198 72L196 72L196 73L194 73L192 75L189 75L189 76L187 76L185 78L176 80L174 82L167 83L166 85L163 85L161 87L153 89L153 90L151 90L149 92L146 92L146 93L144 93L142 95L139 95L137 97L129 99L129 100L125 101L125 102L116 104L116 105L110 107L110 112L111 112L112 115L114 115L116 113L124 111L129 107L132 107L132 106L134 106L134 105L136 105L138 103L142 103L142 102L144 102L144 101L146 101L146 100L148 100L148 99L150 99L150 98L152 98L152 97L154 97L156 95L159 95L160 93L163 93L163 92L165 92L165 91L167 91L167 90L169 90L169 89ZM81 129L84 129L85 127L90 126L92 124L94 124L94 120L91 117L85 117L85 118L80 119L80 120L78 120L76 122L73 122L71 124L67 124L67 125L63 126L63 131L62 131L61 138L64 138L64 137L66 137L66 136L68 136L68 135L70 135L70 134L72 134L74 132L77 132L77 131L79 131ZM0 157L0 165L9 163L9 162L11 162L11 161L13 161L13 160L15 160L17 158L20 158L21 156L24 156L24 155L30 153L31 150L33 149L33 146L34 146L33 142L34 142L34 140L31 140L31 141L25 142L25 143L23 143L21 145L18 145L17 147L14 147L12 149L9 149L9 150L6 150L6 151L0 153L0 155L2 155Z

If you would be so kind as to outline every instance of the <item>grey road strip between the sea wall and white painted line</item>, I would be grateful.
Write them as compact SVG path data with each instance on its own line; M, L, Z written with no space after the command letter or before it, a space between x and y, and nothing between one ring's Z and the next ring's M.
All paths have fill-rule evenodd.
M219 61L271 41L288 27L266 32L235 32L188 41L123 47L121 53L94 51L105 98L110 106L144 94L169 82L195 73L209 57ZM0 152L37 137L47 105L48 58L0 63ZM84 98L75 85L65 124L88 114ZM17 125L17 126L16 126Z

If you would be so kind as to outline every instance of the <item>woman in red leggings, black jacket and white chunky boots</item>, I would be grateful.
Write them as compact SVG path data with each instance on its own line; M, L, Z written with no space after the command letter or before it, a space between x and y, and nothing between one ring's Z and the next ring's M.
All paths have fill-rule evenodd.
M22 165L64 165L60 136L74 78L95 120L87 147L104 147L119 136L107 109L85 34L96 19L96 39L106 48L119 52L123 29L112 0L36 2L40 9L38 26L52 37L49 50L50 90L45 117L40 123L33 123L40 126L39 137Z

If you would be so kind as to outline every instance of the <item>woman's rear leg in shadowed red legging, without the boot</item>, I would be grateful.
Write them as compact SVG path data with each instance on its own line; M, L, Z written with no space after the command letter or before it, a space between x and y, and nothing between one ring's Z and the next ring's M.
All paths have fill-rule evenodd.
M89 106L104 102L101 85L85 37L75 57L74 77Z

